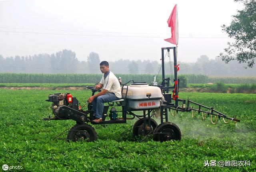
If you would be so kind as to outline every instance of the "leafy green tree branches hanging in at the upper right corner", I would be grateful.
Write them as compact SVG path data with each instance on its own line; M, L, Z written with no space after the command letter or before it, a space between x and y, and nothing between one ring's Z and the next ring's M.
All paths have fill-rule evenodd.
M252 68L256 58L256 0L234 1L242 2L244 9L233 16L230 26L222 25L222 30L234 38L234 42L228 42L228 47L224 49L226 54L220 53L218 57L225 63L237 60Z

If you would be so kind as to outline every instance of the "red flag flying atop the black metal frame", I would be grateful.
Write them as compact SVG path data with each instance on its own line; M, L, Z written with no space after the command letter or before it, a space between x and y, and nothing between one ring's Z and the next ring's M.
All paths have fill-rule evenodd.
M168 26L171 28L172 38L165 39L165 41L178 45L178 12L177 4L172 9L172 13L167 20Z

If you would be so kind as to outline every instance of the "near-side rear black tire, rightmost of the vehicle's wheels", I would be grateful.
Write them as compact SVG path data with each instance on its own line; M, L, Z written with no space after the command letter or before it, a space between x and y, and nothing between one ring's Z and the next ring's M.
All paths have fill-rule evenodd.
M154 130L153 139L159 142L181 140L181 132L179 127L174 123L162 123Z

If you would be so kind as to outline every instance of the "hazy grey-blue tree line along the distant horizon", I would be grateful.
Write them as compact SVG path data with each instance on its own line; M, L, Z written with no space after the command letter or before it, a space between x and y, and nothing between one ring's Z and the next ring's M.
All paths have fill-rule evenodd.
M79 61L76 53L64 49L56 53L6 57L0 55L0 73L100 73L98 53L91 52L87 61ZM155 74L162 73L161 61L119 59L109 61L114 73ZM180 74L204 74L210 76L256 76L256 69L245 69L246 64L230 61L226 64L221 58L210 59L201 55L194 63L179 62ZM173 74L173 61L165 59L165 73Z

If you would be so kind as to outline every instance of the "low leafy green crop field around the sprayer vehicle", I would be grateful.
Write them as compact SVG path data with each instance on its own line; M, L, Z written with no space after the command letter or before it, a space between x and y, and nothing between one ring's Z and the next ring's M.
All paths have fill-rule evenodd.
M121 136L135 123L134 119L126 124L92 125L98 135L95 142L67 142L54 137L74 126L75 121L42 120L52 115L51 103L45 100L58 92L71 93L81 105L91 95L85 89L0 89L0 166L49 172L256 171L256 94L180 93L181 99L189 98L241 120L225 124L218 119L212 125L209 117L202 120L198 113L195 118L191 113L169 115L169 121L181 130L180 141L156 142L148 138L139 142L131 132ZM155 120L160 123L160 119ZM206 165L214 160L215 166ZM221 167L220 161L244 163Z

